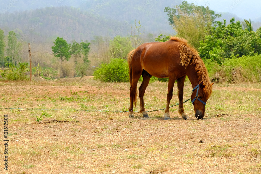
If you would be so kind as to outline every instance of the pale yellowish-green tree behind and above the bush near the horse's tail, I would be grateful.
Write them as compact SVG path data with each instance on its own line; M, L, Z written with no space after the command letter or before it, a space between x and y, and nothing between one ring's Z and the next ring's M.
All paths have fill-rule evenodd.
M113 58L127 58L132 50L131 40L128 37L115 36L110 41L109 50Z

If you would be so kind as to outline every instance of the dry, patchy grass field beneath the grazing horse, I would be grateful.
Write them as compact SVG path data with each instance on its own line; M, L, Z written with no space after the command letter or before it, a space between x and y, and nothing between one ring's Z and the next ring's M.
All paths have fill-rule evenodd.
M146 110L164 108L167 89L168 83L150 83ZM191 90L185 82L184 100ZM115 112L128 110L129 83L88 77L2 82L0 95L0 107L23 109L0 109L0 173L261 173L261 84L214 84L202 120L190 101L187 120L177 106L167 121L164 111L129 119Z

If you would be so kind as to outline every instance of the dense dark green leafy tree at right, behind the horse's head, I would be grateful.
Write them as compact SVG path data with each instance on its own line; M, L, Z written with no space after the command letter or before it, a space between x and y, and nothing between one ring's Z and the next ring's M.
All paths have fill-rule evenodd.
M200 57L206 62L215 61L222 64L225 58L238 58L245 56L253 56L261 53L261 29L257 32L248 32L242 30L239 21L234 23L235 19L230 20L230 24L226 26L224 22L217 22L210 34L205 36L205 40L200 41Z

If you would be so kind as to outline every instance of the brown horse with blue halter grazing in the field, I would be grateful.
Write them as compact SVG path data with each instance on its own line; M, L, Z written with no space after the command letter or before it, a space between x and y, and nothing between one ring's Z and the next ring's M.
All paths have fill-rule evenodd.
M195 117L202 119L205 114L205 102L212 93L212 85L204 62L198 52L187 44L185 39L171 37L167 42L144 43L128 54L130 87L129 117L133 118L133 104L136 106L137 83L140 76L143 81L139 87L140 113L148 117L144 108L143 96L151 76L169 77L167 105L164 119L170 119L169 103L172 98L174 82L177 80L179 114L187 119L183 109L183 87L186 76L192 85L192 103ZM196 92L197 91L197 92Z

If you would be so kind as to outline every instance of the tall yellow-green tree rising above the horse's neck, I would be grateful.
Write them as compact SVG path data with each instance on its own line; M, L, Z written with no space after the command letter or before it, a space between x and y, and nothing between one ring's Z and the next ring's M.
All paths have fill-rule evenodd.
M195 48L199 48L199 41L204 40L215 19L221 17L221 14L215 14L209 7L189 4L187 1L173 9L168 6L164 12L167 12L168 21L177 32L177 36L187 39Z

